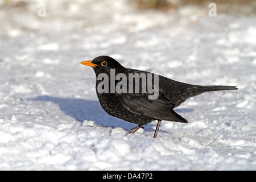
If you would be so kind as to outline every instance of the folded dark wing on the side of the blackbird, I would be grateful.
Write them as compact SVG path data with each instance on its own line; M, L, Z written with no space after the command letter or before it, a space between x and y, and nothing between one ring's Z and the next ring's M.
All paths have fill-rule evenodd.
M156 100L148 100L148 94L123 94L121 105L132 113L145 115L153 119L188 122L175 113L174 105L162 93L159 93Z

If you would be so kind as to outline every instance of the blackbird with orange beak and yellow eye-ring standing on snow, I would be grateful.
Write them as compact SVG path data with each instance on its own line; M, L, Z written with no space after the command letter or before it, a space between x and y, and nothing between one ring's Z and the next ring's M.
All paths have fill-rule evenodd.
M96 73L96 92L102 108L114 117L137 124L138 126L130 133L135 133L143 125L158 120L154 138L158 135L162 120L181 123L188 122L173 110L187 100L187 98L204 92L237 89L236 86L185 84L154 73L125 68L109 56L98 56L92 61L82 61L81 64L93 67ZM105 74L100 75L100 73ZM117 78L118 74L119 78ZM143 81L143 76L145 75L148 78L146 82ZM151 75L151 77L148 77L148 75ZM137 82L136 85L137 78L139 78L139 83ZM154 78L158 79L154 80ZM121 81L122 84L120 84ZM125 85L126 83L127 85ZM149 84L151 85L147 87ZM129 90L130 87L131 89ZM145 90L145 88L150 87L155 89L154 94L157 92L155 97L152 92L149 92L149 89ZM139 92L138 90L136 92L136 88L139 88ZM122 92L120 92L120 89Z

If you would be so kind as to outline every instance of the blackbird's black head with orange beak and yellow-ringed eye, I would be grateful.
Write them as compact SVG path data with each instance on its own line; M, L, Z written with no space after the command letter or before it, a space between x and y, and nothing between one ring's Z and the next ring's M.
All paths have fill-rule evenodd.
M109 56L98 56L92 61L82 61L81 64L93 67L96 75L100 73L110 74L110 69L122 69L122 65Z

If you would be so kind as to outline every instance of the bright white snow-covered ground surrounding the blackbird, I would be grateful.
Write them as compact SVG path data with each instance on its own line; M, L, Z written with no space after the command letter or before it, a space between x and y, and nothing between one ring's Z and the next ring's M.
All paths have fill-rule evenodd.
M256 17L112 3L2 5L0 170L256 170ZM93 69L80 64L99 55L239 89L187 100L176 111L189 123L162 122L158 139L156 122L131 135L136 125L105 113Z

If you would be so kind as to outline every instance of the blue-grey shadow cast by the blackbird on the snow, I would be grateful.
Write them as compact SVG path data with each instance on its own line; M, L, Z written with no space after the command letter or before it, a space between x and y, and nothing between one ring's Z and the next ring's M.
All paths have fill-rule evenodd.
M106 113L99 101L90 101L80 98L61 98L61 97L51 97L51 96L39 96L35 98L30 98L31 101L42 101L42 102L52 102L53 104L59 105L60 110L64 114L75 118L79 122L84 122L85 120L93 121L96 125L106 126L106 127L122 127L125 130L131 130L137 125L134 123L123 121L122 119L112 117ZM191 112L193 109L175 109L178 113ZM145 127L147 131L155 131L155 124L147 124L149 127Z

